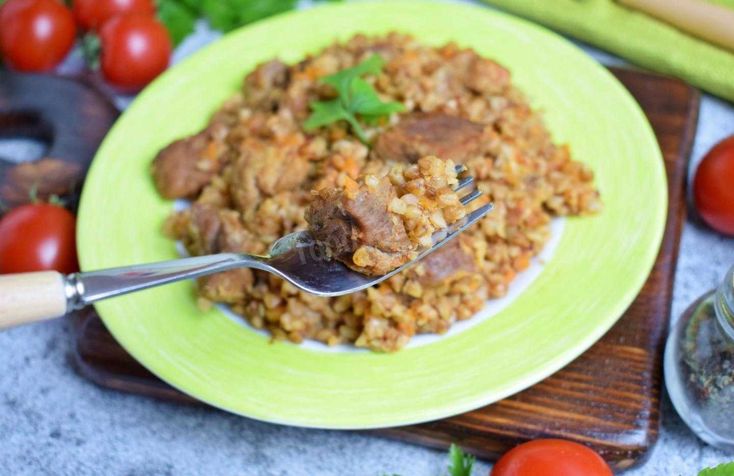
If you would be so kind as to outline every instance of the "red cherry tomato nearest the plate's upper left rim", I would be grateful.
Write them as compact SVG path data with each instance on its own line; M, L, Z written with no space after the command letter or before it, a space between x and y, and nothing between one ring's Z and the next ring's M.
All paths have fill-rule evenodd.
M104 78L123 92L136 92L168 67L173 46L166 27L145 15L121 15L100 31Z

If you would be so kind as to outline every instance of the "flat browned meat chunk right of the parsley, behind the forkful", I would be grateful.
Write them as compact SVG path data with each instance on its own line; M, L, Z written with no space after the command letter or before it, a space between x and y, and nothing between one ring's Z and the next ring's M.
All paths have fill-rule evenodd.
M374 158L415 162L437 155L459 164L482 155L484 125L444 114L413 114L380 134Z

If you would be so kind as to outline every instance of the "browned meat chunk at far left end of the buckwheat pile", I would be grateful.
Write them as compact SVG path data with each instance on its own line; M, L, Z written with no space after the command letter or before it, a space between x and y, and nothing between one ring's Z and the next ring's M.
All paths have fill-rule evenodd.
M195 196L222 166L226 133L219 117L194 136L172 142L153 161L153 179L166 198Z

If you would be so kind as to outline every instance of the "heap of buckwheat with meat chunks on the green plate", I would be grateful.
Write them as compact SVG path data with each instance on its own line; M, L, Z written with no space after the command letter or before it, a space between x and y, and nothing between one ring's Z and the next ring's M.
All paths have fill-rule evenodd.
M337 77L352 81L361 102L355 95L343 100L349 88ZM319 104L318 121L314 104ZM352 110L359 114L345 115ZM387 112L368 114L374 111ZM197 282L202 307L212 301L230 304L276 339L396 351L415 334L446 332L487 299L504 296L551 237L553 217L600 209L592 171L573 159L569 147L553 142L504 67L454 43L429 46L396 33L357 35L292 65L272 59L244 78L241 91L203 131L162 150L153 177L164 197L192 200L164 227L192 255L266 254L278 238L308 229L305 212L312 204L312 226L321 220L319 209L333 213L341 206L355 223L339 219L337 227L324 221L324 230L355 232L361 240L356 243L368 247L356 260L355 253L349 258L354 266L374 270L403 259L383 265L375 260L385 257L382 253L390 260L393 253L410 253L413 239L424 236L410 235L404 214L394 211L401 210L398 202L394 210L369 211L402 198L397 189L396 196L390 191L401 184L388 186L382 177L390 180L392 166L403 172L418 166L420 175L418 161L430 155L467 166L467 175L484 191L468 211L487 202L495 208L415 266L338 297L301 293L283 279L250 269ZM373 192L366 183L370 176L377 180ZM344 195L348 189L356 191L355 198ZM371 198L360 199L360 193ZM377 197L382 197L379 207ZM412 204L404 205L407 210ZM387 218L377 220L380 216ZM397 217L402 223L396 225ZM446 213L443 217L448 222ZM422 211L421 218L425 223ZM404 236L388 236L393 226L402 227Z

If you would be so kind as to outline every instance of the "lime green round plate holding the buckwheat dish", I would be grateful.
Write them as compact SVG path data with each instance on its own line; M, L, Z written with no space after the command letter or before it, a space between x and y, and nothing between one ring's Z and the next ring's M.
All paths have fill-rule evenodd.
M396 354L270 343L223 312L200 312L191 282L96 305L115 338L156 376L211 405L269 422L376 428L492 403L566 365L639 292L660 244L666 179L644 114L571 43L482 7L424 1L334 4L228 34L150 85L120 117L90 170L79 210L84 270L177 257L161 235L172 202L149 175L156 152L202 128L258 62L295 62L357 32L454 40L497 59L545 111L554 138L592 167L603 213L567 219L537 277L504 309Z

